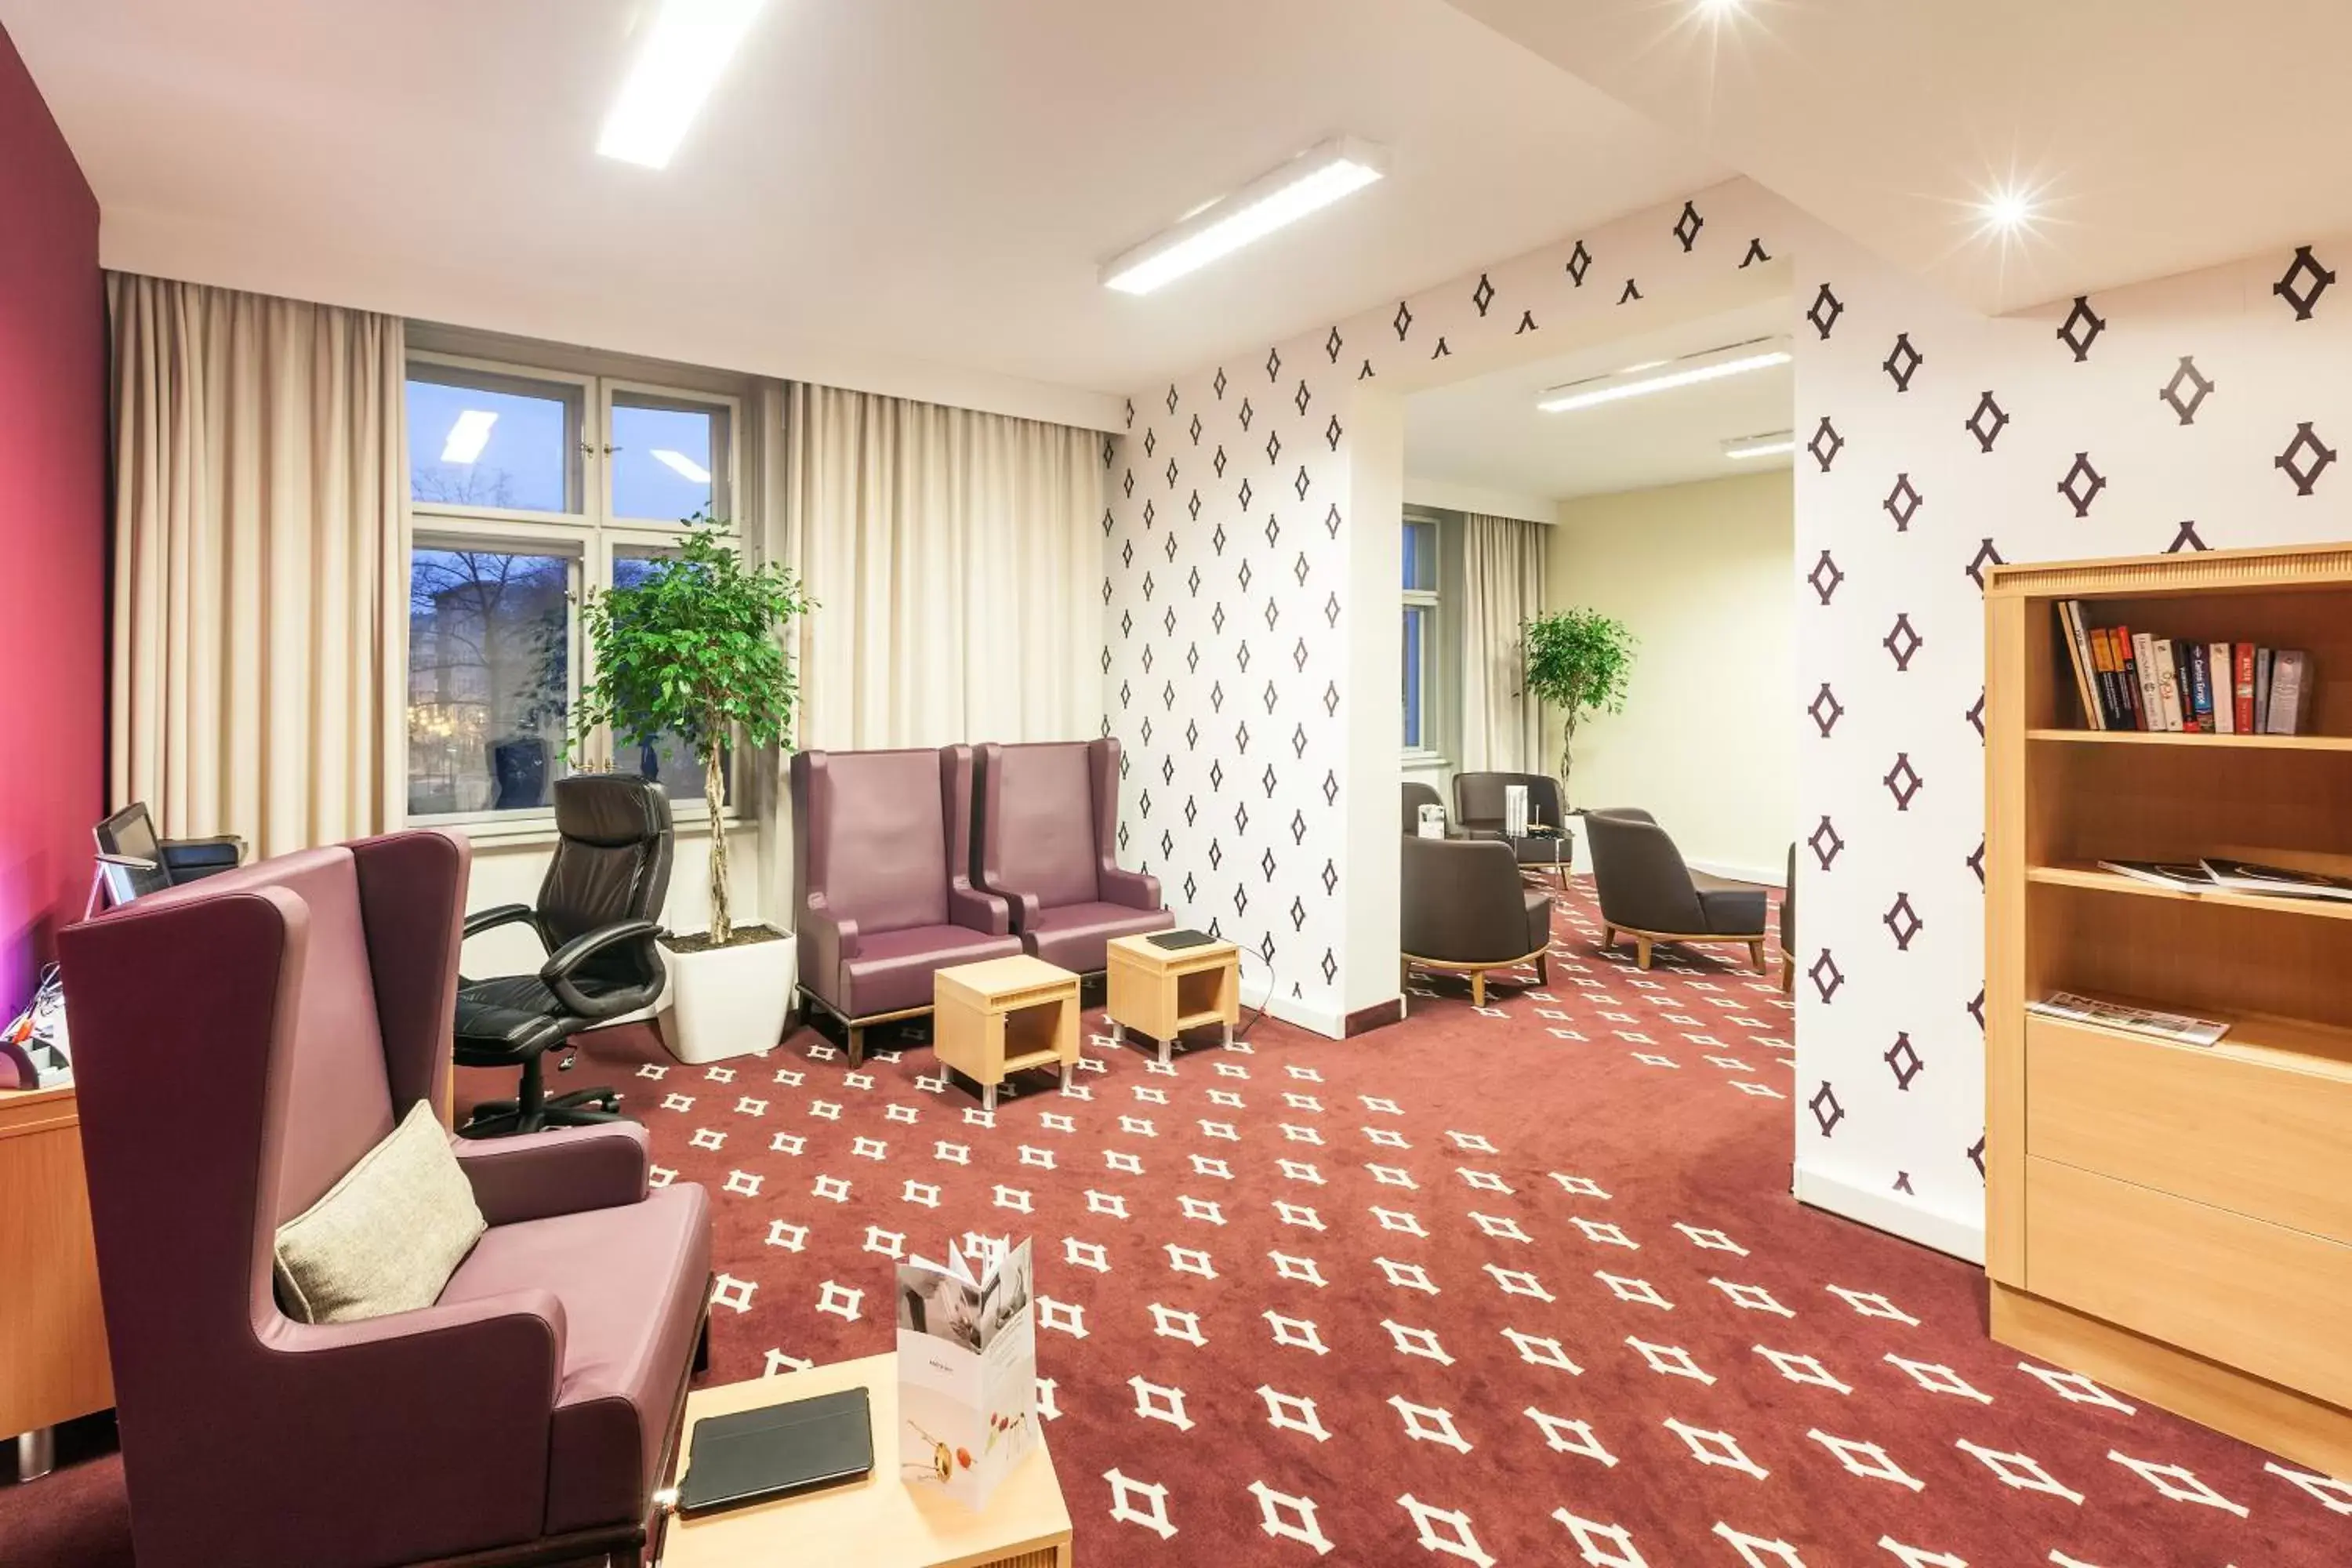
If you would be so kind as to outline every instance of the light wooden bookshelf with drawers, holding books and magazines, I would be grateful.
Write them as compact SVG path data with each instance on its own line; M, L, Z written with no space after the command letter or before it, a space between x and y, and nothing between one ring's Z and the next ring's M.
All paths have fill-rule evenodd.
M2310 654L2298 736L2093 731L2056 604ZM2352 875L2352 545L1994 567L1985 583L1992 1335L2352 1474L2352 903L2100 860ZM2213 1048L2025 1011L2074 990Z

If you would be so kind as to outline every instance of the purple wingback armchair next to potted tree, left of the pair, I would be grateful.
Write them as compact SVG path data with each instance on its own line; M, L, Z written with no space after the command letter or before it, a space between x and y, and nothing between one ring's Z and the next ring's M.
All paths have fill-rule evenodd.
M931 1011L931 976L1021 952L971 886L971 748L793 755L800 992L849 1030Z

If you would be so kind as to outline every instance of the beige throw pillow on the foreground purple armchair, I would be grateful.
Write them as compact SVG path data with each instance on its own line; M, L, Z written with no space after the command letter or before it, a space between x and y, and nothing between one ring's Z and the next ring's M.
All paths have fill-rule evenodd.
M449 1133L419 1100L327 1197L278 1227L278 1302L301 1324L430 1307L485 1229Z

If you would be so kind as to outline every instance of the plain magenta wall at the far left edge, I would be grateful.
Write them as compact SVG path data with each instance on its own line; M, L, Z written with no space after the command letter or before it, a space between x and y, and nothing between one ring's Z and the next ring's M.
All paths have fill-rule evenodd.
M103 802L99 200L0 31L0 1025L82 912Z

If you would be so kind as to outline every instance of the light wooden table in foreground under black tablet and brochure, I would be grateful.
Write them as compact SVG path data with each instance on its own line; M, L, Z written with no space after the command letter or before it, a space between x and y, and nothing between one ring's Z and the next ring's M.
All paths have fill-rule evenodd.
M863 1481L779 1497L701 1519L670 1519L661 1568L1070 1568L1070 1509L1044 1434L978 1514L929 1486L898 1479L898 1356L811 1366L687 1396L677 1476L706 1415L757 1410L863 1385L873 1403L875 1467Z

